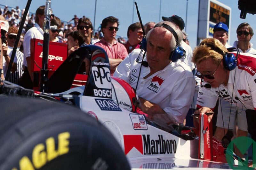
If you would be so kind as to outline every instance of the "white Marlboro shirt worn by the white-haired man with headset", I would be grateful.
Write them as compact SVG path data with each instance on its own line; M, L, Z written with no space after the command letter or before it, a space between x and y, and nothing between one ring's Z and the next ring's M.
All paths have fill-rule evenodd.
M135 49L116 68L114 76L128 82L134 89L138 81L140 64L136 59L140 49ZM143 53L140 56L142 60ZM144 58L146 61L146 56ZM149 67L142 66L137 94L150 102L158 104L166 113L175 115L183 123L195 91L195 79L191 69L181 61L171 62L148 78Z

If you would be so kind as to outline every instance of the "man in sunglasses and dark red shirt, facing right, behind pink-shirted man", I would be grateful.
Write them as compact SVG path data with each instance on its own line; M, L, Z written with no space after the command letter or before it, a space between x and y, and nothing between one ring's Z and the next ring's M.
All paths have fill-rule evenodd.
M128 41L124 44L127 53L131 53L132 50L140 48L140 41L143 39L143 32L139 22L133 23L127 30Z

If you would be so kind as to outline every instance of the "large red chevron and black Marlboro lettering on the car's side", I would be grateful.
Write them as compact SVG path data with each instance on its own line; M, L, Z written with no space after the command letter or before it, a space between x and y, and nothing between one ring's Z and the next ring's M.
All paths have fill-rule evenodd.
M150 135L124 135L124 153L127 155L133 148L142 155L172 154L177 151L177 143L174 139L151 138Z

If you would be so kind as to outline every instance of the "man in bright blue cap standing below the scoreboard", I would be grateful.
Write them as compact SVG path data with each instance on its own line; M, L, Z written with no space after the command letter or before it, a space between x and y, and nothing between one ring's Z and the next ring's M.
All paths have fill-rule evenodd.
M222 22L214 25L213 38L218 39L226 48L232 47L227 44L228 26Z

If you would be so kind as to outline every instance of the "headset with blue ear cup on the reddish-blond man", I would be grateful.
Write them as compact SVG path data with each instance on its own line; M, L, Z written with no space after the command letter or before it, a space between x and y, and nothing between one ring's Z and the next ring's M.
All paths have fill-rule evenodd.
M239 51L236 49L237 53L236 56L233 53L224 53L219 47L213 46L212 44L201 44L211 47L212 50L216 51L217 53L223 56L223 66L226 70L231 71L236 68L237 65L237 58ZM233 50L233 48L232 48Z

